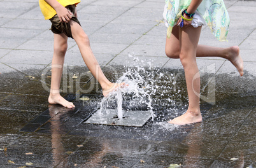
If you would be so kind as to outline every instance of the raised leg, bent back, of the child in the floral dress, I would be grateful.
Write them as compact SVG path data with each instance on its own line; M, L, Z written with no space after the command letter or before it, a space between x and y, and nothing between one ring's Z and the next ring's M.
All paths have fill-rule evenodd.
M180 58L180 45L178 36L178 26L173 27L170 38L166 38L166 55L173 59ZM240 76L243 76L243 59L239 55L239 46L229 48L219 48L206 45L198 45L196 57L222 57L231 61L238 69Z

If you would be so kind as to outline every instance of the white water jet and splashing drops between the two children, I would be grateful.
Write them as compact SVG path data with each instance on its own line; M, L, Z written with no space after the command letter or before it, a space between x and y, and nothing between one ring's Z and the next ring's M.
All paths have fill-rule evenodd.
M166 108L171 108L172 112L176 111L176 106L180 106L177 102L181 102L177 101L176 97L182 97L180 92L183 90L176 85L179 73L157 69L153 61L144 62L138 57L129 57L134 58L134 64L124 67L126 72L117 80L117 83L125 82L129 86L118 88L108 97L104 97L101 101L101 111L118 109L119 119L123 118L123 111L150 111L152 120L156 116L153 113L155 107L160 111Z

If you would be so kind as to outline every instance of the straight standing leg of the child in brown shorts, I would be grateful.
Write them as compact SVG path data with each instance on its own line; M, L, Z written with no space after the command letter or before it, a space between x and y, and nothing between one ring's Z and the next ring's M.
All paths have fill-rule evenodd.
M68 48L68 37L64 34L54 34L54 51L52 58L52 80L48 102L50 104L61 104L66 108L75 107L72 102L66 101L60 93L60 80L63 71L64 57Z

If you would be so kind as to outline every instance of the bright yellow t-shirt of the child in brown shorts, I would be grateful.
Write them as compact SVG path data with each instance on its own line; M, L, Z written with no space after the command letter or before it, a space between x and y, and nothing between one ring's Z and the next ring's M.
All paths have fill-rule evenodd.
M56 0L56 1L58 1L64 7L71 4L78 4L81 2L80 0ZM52 6L50 6L50 4L46 3L44 0L39 0L39 6L45 19L50 19L57 14L56 11L52 8Z

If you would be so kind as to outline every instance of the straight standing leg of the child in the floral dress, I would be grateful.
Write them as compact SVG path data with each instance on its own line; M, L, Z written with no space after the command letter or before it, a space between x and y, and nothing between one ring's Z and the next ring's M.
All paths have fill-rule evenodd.
M184 125L202 121L199 106L200 97L195 94L195 92L200 93L200 78L194 80L194 76L199 73L196 64L196 49L200 32L201 27L194 28L192 26L184 27L182 31L180 30L180 61L185 71L188 109L185 114L174 118L169 123Z

